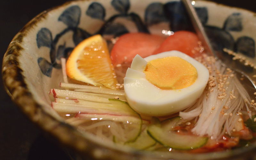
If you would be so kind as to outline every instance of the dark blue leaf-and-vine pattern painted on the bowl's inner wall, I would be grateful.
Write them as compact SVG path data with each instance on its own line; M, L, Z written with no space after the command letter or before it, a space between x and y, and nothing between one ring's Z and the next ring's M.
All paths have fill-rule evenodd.
M75 45L80 43L87 37L95 34L112 35L114 37L130 32L125 24L117 23L117 18L127 19L134 23L139 32L150 33L149 28L158 23L168 23L169 29L172 31L189 30L194 31L185 7L180 1L172 1L167 3L151 3L144 12L144 17L139 16L135 12L129 12L129 0L112 0L112 7L118 12L108 19L106 18L106 9L99 2L92 2L85 13L81 12L78 5L68 7L59 16L58 21L63 22L67 28L60 31L55 37L52 37L52 32L48 28L41 28L36 35L37 47L42 46L50 48L50 62L43 57L37 59L38 65L45 76L51 77L52 68L61 68L58 60L61 57L67 58L73 47L66 47L66 44L57 45L58 41L67 32L73 32L73 42ZM235 52L240 52L248 57L255 57L255 42L249 36L240 36L237 40L234 39L231 32L241 32L243 30L242 15L239 12L234 12L225 20L222 28L207 25L208 9L207 7L195 7L197 14L203 23L207 35L213 45L213 48L223 53L222 49L227 48ZM93 19L103 21L103 25L94 33L79 28L81 14L86 14Z

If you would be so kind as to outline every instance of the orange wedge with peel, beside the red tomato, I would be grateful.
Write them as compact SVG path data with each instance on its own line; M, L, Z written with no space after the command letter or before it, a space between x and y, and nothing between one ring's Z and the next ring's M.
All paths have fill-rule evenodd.
M108 47L100 35L79 43L68 57L67 75L77 81L116 90L116 80Z

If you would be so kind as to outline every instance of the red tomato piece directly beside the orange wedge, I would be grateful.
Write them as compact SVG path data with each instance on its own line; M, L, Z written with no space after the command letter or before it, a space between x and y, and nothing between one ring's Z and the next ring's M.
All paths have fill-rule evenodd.
M118 38L113 46L110 58L112 64L131 63L139 54L142 58L148 57L164 42L164 36L146 33L127 33Z

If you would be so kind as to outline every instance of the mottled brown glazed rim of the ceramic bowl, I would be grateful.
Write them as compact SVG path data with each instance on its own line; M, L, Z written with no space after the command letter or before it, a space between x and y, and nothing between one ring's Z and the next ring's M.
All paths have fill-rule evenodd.
M88 0L76 0L76 1L88 1ZM58 140L58 142L68 148L71 148L81 156L93 157L95 159L162 159L160 155L146 153L145 152L125 152L120 148L111 148L106 145L102 145L95 142L77 131L69 124L65 124L57 120L52 115L44 111L44 106L38 104L34 99L32 93L29 91L27 84L25 83L25 77L23 76L23 70L20 68L19 56L22 54L22 42L23 38L27 35L29 29L34 28L38 22L44 20L48 12L58 9L59 7L66 6L72 2L70 1L62 4L58 7L51 8L37 15L34 19L29 21L20 32L12 39L7 51L4 54L2 75L6 92L12 98L12 101L20 108L20 110L35 124L37 124L45 132ZM213 2L211 2L213 3ZM217 4L217 3L215 3ZM223 5L225 6L225 5ZM228 6L225 6L228 7ZM233 8L233 7L232 7ZM243 9L244 10L244 9ZM246 10L247 11L247 10ZM247 11L248 12L248 11ZM251 12L251 11L250 11ZM254 13L254 12L252 12ZM255 13L254 13L255 14ZM226 159L225 157L238 157L242 153L250 156L250 153L255 151L255 144L248 148L240 148L227 152L207 153L207 154L184 154L184 157L180 157L181 154L173 153L173 157L181 159ZM245 154L242 155L244 157ZM187 158L186 158L187 157Z

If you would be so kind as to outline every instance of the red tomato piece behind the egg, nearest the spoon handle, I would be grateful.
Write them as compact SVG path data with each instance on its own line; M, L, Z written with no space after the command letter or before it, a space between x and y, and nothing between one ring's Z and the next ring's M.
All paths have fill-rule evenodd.
M201 53L197 35L189 31L177 31L164 40L153 54L177 50L186 53L190 57L197 57Z

